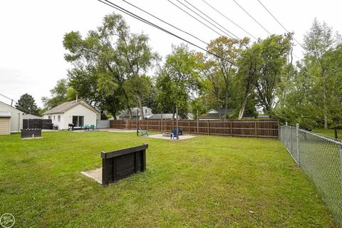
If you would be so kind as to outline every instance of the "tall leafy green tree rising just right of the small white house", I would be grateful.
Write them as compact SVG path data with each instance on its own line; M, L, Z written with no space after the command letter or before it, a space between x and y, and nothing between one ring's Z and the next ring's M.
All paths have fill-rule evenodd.
M130 33L122 16L110 14L105 16L102 26L89 31L86 38L76 31L67 33L63 46L68 51L66 61L73 63L73 71L96 81L92 94L96 99L103 98L100 100L103 108L115 116L118 108L124 106L132 118L133 102L125 82L142 76L159 60L148 45L148 37L143 33ZM114 105L113 100L120 105Z

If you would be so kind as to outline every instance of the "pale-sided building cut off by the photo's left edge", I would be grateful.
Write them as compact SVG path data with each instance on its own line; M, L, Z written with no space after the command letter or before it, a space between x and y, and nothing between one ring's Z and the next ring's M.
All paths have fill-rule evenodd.
M21 110L0 101L0 114L0 135L19 133L23 128L24 113Z

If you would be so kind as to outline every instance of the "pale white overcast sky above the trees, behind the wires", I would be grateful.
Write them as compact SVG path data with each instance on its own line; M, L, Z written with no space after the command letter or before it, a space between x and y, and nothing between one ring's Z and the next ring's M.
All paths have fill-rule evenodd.
M170 24L198 36L206 42L219 36L180 11L180 9L177 9L167 0L128 1L170 22ZM177 0L170 1L180 5ZM184 0L179 1L186 4ZM213 9L210 9L202 0L187 1L239 38L249 36ZM268 33L242 11L233 0L206 1L253 36L260 38L268 36ZM284 33L284 29L262 8L257 0L236 1L269 32ZM260 1L287 30L294 31L294 36L299 42L303 41L304 34L311 27L315 17L318 21L326 21L329 26L333 27L334 31L341 31L341 1ZM199 43L194 38L161 24L150 16L125 4L124 1L113 0L113 2L205 48L204 44ZM182 7L184 8L184 6ZM113 8L97 0L1 1L0 93L14 100L18 100L24 93L29 93L36 99L36 103L41 106L41 97L49 96L49 90L56 85L56 81L66 78L66 70L71 67L63 58L65 53L62 44L64 34L70 31L80 31L83 36L86 36L90 29L100 26L103 16L113 11L115 11ZM136 21L129 16L124 15L124 18L128 21L132 32L143 32L150 37L150 46L154 51L160 53L163 58L170 53L172 43L182 43L177 38ZM219 33L222 32L219 31ZM252 38L252 41L255 41L254 38ZM196 49L192 46L190 48ZM302 50L300 46L297 45L294 48L294 53L301 58ZM11 102L1 95L0 100L6 103Z

